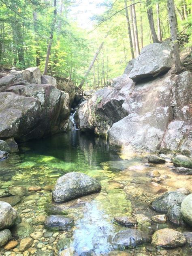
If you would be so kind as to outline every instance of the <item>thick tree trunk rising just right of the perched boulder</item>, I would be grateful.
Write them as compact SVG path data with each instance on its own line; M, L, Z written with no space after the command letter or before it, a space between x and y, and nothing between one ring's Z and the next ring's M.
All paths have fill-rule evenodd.
M167 8L168 8L169 25L170 25L170 31L171 31L171 41L173 42L175 71L176 73L179 73L181 72L181 60L179 56L179 44L177 41L177 22L176 22L176 15L175 15L174 0L167 0Z

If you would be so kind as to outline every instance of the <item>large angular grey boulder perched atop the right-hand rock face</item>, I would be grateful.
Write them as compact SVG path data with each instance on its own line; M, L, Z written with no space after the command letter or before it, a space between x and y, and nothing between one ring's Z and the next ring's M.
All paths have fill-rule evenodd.
M171 47L160 43L152 43L143 47L135 59L129 77L138 82L146 77L156 77L171 68Z

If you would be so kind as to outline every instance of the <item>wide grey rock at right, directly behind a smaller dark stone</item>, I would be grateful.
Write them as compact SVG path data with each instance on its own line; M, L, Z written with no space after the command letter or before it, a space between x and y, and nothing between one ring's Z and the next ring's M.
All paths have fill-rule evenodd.
M180 206L184 198L186 198L186 195L182 193L169 191L156 198L156 200L152 202L151 207L157 212L168 213L169 209L174 205Z

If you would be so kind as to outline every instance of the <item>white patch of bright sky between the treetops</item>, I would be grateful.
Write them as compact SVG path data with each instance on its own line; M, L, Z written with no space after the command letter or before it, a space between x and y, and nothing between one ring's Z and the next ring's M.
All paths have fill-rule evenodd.
M71 8L71 15L77 19L77 23L81 28L92 28L93 22L91 17L93 15L102 14L105 11L104 6L98 6L103 0L78 0L77 6Z

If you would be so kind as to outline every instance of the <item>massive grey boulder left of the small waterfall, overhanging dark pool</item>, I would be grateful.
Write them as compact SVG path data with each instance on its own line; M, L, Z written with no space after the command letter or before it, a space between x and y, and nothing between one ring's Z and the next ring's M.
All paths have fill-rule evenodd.
M69 97L54 86L12 86L0 93L0 138L17 141L65 131Z

